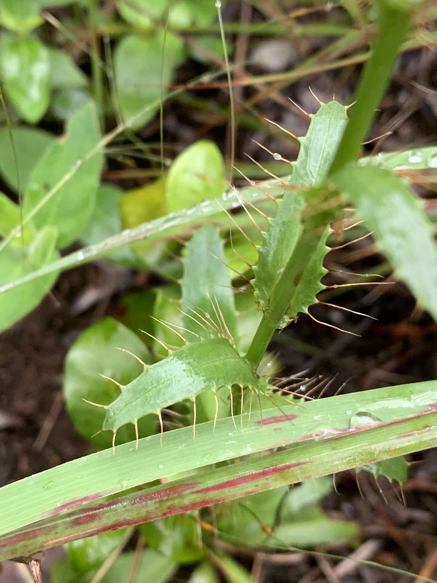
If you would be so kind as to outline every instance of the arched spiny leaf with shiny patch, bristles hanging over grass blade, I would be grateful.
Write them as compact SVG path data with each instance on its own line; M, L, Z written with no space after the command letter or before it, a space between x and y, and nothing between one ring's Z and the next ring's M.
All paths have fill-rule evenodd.
M225 338L187 344L152 366L121 388L121 395L106 408L104 430L114 433L126 423L136 423L184 399L194 401L202 391L213 393L232 385L263 390L249 364Z

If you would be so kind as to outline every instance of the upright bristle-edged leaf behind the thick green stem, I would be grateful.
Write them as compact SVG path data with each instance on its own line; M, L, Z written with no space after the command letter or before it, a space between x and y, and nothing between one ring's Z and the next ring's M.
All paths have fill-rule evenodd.
M292 185L313 187L323 182L346 127L346 107L337 101L322 103L318 112L310 117L306 136L299 138L301 147L293 164L290 181ZM252 285L263 312L271 309L275 287L296 250L303 229L301 212L304 206L305 199L302 194L286 190L282 201L278 201L276 216L270 220L269 230L258 250L258 263L253 268L255 278ZM317 237L316 233L314 237ZM300 245L298 252L306 252L307 259L302 262L302 270L297 278L290 282L290 307L281 327L299 311L307 312L309 305L315 303L318 291L323 289L320 278L326 273L323 268L323 258L328 251L326 238L327 231L322 237L319 236L318 243L312 244L311 253L309 247L305 245L302 250Z

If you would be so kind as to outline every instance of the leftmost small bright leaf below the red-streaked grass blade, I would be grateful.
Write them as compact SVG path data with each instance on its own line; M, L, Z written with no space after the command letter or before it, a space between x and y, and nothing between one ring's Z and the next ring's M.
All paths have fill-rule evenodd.
M75 573L86 575L98 569L126 538L127 531L128 529L121 528L118 531L105 532L102 535L66 543L65 550Z

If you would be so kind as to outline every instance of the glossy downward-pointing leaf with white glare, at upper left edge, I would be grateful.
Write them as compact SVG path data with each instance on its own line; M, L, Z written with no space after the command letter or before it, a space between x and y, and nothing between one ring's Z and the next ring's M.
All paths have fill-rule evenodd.
M41 41L32 37L0 37L0 74L6 95L24 120L35 124L50 100L50 59Z

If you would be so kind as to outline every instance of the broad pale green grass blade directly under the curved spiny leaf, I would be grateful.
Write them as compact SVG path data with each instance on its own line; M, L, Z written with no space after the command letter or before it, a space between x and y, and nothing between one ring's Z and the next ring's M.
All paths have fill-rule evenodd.
M186 427L164 433L162 447L159 435L140 440L138 450L135 442L119 445L115 455L108 449L100 451L1 488L0 535L178 472L301 441L355 433L354 419L362 412L393 422L390 427L397 435L399 420L432 412L436 403L437 381L427 381L289 405L283 408L284 416L277 409L265 410L262 419L252 413L249 427L248 415L244 416L244 430L235 430L229 417L217 421L215 433L213 422L202 423L196 427L195 441L192 427ZM431 426L435 419L427 415L424 423ZM414 447L411 451L424 447L419 438ZM364 457L361 463L373 458ZM332 472L332 456L326 463L326 473Z

